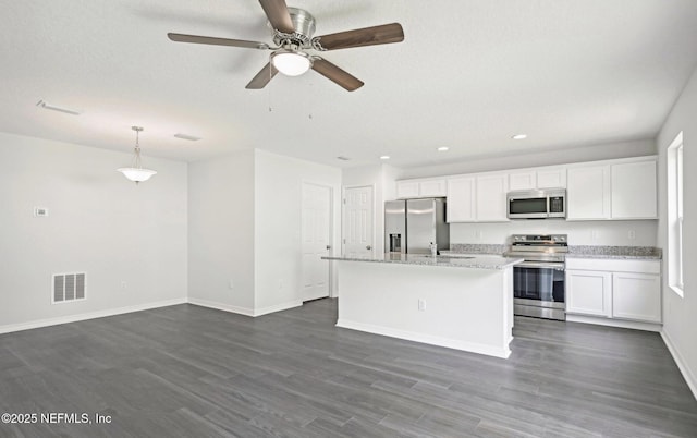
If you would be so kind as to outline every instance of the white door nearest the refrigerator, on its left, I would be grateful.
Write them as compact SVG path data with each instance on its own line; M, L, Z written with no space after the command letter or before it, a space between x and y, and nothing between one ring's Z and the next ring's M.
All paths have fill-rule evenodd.
M344 255L347 257L374 254L372 186L344 188L343 204Z

